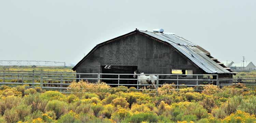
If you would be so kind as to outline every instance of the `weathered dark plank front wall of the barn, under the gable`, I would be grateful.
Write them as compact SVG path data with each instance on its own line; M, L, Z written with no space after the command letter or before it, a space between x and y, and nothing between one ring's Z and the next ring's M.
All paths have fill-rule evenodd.
M203 74L174 48L138 33L99 47L76 68L76 72L100 73L100 66L105 65L138 66L148 74L170 74L171 69L192 69L193 74Z

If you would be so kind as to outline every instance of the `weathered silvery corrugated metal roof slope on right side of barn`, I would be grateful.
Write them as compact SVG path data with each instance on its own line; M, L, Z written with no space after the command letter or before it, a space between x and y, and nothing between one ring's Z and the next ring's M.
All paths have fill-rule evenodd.
M207 53L197 48L196 44L179 37L175 34L164 34L158 32L140 31L159 40L170 43L174 48L184 54L188 59L195 63L198 67L203 69L207 73L231 73L223 68L221 65L214 62Z

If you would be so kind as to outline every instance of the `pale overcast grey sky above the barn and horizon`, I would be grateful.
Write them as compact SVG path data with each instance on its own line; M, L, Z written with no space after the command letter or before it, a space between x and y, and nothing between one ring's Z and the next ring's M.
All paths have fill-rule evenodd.
M255 0L0 0L0 59L76 64L98 43L162 28L221 61L256 63Z

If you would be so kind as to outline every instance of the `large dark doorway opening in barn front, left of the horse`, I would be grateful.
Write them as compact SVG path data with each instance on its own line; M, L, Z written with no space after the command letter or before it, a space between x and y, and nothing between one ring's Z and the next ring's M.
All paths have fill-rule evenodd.
M133 74L137 66L101 66L102 73ZM118 75L102 75L102 78L118 78ZM133 78L133 75L120 75L119 78ZM137 77L136 77L137 78ZM118 84L118 80L102 80L107 84ZM119 80L119 84L137 84L137 80ZM118 85L111 85L117 87ZM137 86L128 86L137 87Z

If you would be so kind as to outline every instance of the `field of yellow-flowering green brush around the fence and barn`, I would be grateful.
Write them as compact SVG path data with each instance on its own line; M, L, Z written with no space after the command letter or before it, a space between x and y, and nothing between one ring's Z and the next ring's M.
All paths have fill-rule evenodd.
M47 70L68 71L67 68ZM158 95L144 94L155 90L110 87L102 82L80 81L69 87L74 93L1 86L0 122L256 122L256 96L253 90L245 90L245 85L221 89L205 86L198 92L185 86L175 91L173 86L164 85L158 88Z

